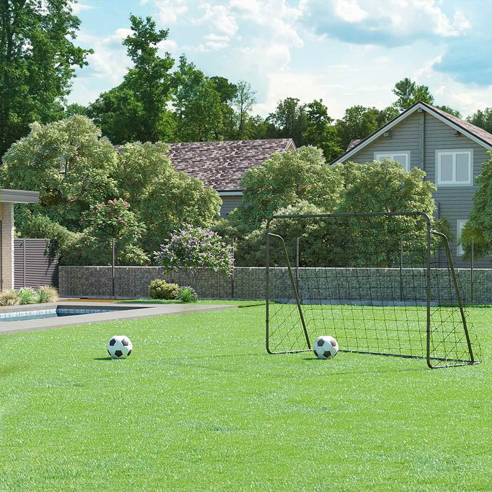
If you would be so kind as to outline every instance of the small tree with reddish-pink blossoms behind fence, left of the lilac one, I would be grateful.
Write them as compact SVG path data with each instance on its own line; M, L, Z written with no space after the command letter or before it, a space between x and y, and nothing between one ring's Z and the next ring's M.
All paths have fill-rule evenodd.
M146 264L150 258L138 246L145 235L145 226L122 198L93 205L81 222L87 225L86 235L94 245L101 240L115 239L118 259L122 262ZM89 246L89 245L88 245Z

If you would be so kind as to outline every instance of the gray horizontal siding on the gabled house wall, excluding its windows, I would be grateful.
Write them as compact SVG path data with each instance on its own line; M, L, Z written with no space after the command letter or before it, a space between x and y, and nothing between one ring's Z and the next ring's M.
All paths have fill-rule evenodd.
M391 128L390 132L390 138L379 136L346 160L364 163L373 160L375 153L378 152L409 151L411 166L423 169L427 174L426 179L435 183L438 150L472 150L473 178L480 174L482 163L487 159L487 150L484 147L463 134L456 136L451 126L426 111L413 112ZM473 195L478 186L476 184L436 186L438 189L433 196L438 205L438 216L449 220L456 238L458 220L468 218L473 207ZM469 262L464 262L461 255L458 255L456 240L450 243L450 247L455 265L469 267ZM477 267L490 267L491 259L476 261L475 264Z

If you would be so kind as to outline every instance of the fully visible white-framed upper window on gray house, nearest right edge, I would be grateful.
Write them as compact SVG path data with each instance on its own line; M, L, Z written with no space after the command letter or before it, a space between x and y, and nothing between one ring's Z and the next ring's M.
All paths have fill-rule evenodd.
M437 184L473 184L472 179L473 151L436 151L436 183Z

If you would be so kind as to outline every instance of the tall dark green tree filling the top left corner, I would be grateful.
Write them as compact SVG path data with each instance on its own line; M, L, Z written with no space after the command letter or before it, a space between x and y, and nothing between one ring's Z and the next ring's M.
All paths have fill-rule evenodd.
M60 118L75 67L92 50L75 46L69 0L0 2L0 156L35 121Z

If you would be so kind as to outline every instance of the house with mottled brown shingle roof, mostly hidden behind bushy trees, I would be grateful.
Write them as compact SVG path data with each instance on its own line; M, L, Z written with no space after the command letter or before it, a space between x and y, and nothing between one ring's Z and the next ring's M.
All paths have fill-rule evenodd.
M241 205L243 188L240 182L248 169L260 165L276 152L296 148L290 138L169 145L168 155L178 171L202 180L218 192L222 199L221 217Z

